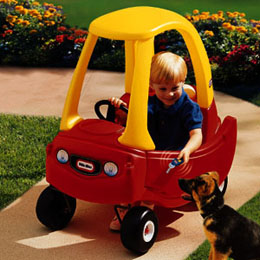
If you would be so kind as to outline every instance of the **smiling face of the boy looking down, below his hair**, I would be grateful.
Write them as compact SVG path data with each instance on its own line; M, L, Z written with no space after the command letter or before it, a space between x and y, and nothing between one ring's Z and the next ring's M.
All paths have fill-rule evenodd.
M151 83L151 87L154 89L157 98L163 102L165 108L168 108L181 97L183 84L184 82L179 82L176 85L172 83Z

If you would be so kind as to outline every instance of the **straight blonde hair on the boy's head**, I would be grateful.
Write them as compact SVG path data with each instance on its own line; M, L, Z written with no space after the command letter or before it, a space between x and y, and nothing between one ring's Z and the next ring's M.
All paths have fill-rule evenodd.
M184 82L187 66L182 57L171 52L159 52L152 58L150 82L161 84Z

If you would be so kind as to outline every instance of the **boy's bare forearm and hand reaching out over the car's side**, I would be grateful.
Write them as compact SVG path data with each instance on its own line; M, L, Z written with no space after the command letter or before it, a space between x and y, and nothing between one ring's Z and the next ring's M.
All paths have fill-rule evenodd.
M187 163L190 159L190 154L196 151L202 143L202 131L200 128L190 131L190 139L184 148L180 151L178 159L183 158L184 163Z

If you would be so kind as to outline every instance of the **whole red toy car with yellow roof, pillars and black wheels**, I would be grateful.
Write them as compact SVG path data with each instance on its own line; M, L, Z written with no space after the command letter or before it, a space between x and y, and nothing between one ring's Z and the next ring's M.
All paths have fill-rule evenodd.
M178 151L155 150L147 130L150 62L154 37L176 29L188 47L196 76L194 99L204 116L203 144L187 164L169 164ZM101 119L82 119L77 112L85 71L97 37L125 40L126 84L129 101L126 127L114 123L108 101L96 104ZM108 104L107 116L100 106ZM134 7L119 10L94 20L82 50L61 121L61 131L47 146L46 178L50 186L40 195L36 212L51 228L64 228L72 218L76 199L89 202L136 204L151 201L174 208L187 203L178 186L179 178L194 178L217 171L220 183L227 185L236 147L236 119L218 117L211 71L202 41L184 17L159 8ZM179 162L176 162L177 164ZM158 232L155 213L146 207L132 207L122 221L123 245L145 253Z

